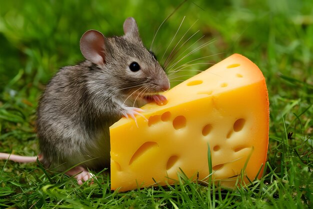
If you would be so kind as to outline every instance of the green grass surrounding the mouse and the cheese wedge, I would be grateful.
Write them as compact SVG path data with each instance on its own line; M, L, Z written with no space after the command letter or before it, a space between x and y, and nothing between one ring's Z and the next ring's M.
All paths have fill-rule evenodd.
M82 60L79 38L88 29L121 35L126 17L136 19L150 46L160 23L181 1L1 1L0 151L38 152L36 105L44 84L61 66ZM185 16L177 37L199 32L189 51L211 42L181 63L208 55L216 63L233 53L252 60L263 72L270 101L269 148L261 179L247 187L220 189L190 182L181 173L175 185L117 193L109 176L93 185L46 172L35 163L0 161L3 208L312 208L313 207L313 2L188 1L163 25L153 50L161 58ZM198 38L205 35L199 42ZM174 48L175 38L169 45ZM180 43L181 44L181 43ZM166 55L170 52L167 51ZM210 65L193 66L204 70ZM196 73L181 71L175 85Z

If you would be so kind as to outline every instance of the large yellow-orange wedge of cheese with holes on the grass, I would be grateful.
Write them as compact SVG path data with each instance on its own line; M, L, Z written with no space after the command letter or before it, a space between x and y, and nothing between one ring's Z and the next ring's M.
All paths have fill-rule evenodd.
M208 158L211 178L221 186L260 176L269 107L265 79L255 64L234 54L164 96L166 104L142 107L147 121L136 117L138 127L126 118L110 127L112 190L172 184L180 169L205 181Z

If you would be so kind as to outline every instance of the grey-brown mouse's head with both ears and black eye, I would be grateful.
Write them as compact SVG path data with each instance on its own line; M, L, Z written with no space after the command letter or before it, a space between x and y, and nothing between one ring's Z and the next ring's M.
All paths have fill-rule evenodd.
M169 89L169 81L154 54L146 50L133 18L123 24L124 35L106 38L90 30L80 39L80 51L99 71L111 75L111 85L119 93L133 96L153 94ZM141 96L144 96L141 95Z

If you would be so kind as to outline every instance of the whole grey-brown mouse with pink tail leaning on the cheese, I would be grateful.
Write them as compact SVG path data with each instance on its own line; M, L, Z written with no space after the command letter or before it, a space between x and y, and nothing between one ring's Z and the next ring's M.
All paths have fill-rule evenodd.
M0 153L1 159L34 162L38 158L47 169L74 176L78 184L92 181L88 170L109 167L109 127L121 117L136 122L136 116L143 117L139 107L148 102L163 104L166 98L161 93L170 88L154 53L144 47L133 18L124 21L123 32L109 38L95 30L82 35L79 46L85 60L61 68L39 99L40 153L35 157Z

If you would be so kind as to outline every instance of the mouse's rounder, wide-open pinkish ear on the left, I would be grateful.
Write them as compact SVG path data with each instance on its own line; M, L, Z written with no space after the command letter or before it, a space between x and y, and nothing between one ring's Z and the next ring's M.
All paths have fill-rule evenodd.
M102 66L105 62L104 36L98 31L89 30L80 38L80 52L90 62Z

